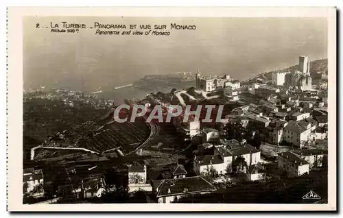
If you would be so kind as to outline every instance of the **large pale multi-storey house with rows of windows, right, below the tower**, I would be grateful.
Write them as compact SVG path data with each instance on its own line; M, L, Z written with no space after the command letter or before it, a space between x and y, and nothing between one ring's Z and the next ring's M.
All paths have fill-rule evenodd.
M284 129L283 141L302 148L314 128L316 126L307 121L289 121Z

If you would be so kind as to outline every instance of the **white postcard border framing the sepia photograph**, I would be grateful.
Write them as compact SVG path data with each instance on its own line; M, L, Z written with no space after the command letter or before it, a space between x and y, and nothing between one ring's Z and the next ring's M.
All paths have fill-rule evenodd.
M8 10L8 210L237 211L335 210L336 208L336 15L335 8L9 8ZM329 22L329 204L22 204L22 17L37 16L327 17Z

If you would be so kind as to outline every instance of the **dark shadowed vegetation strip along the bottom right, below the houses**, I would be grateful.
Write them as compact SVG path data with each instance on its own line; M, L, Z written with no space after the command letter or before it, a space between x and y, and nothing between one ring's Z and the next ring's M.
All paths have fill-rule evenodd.
M178 203L311 204L314 201L304 200L303 195L312 190L326 199L327 189L327 169L321 169L296 178L241 182L213 193L181 198Z

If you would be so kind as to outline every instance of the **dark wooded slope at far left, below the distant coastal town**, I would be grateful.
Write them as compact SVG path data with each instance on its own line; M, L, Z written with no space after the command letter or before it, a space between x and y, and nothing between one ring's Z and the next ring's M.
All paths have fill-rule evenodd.
M73 101L68 106L63 101L30 98L23 104L23 152L24 164L29 160L29 150L47 141L71 143L82 132L93 130L97 117L104 109L91 104Z

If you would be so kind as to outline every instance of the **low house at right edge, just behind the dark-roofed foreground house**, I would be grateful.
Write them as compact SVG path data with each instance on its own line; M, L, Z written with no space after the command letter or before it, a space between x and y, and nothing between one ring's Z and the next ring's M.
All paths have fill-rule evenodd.
M301 149L294 152L303 160L309 162L309 169L322 167L327 164L327 150L322 149Z

